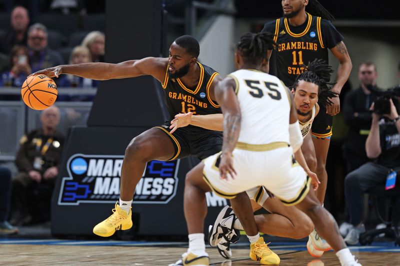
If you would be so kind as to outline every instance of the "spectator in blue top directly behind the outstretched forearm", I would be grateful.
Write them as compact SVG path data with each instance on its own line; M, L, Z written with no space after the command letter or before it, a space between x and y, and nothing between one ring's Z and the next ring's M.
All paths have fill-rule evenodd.
M91 56L89 49L85 46L76 46L73 48L69 57L69 64L81 64L91 62ZM78 77L74 75L61 75L57 82L58 88L69 87L69 88L94 88L97 87L98 81L88 78ZM62 91L62 90L61 90ZM92 101L93 96L91 95L62 95L57 97L58 101Z

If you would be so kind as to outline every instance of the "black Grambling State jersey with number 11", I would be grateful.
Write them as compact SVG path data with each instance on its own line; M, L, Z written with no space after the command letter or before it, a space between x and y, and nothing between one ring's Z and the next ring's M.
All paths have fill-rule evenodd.
M294 83L296 76L304 71L302 64L315 58L328 62L328 51L322 41L321 18L307 13L305 29L300 33L290 31L287 18L275 22L277 76L286 86Z

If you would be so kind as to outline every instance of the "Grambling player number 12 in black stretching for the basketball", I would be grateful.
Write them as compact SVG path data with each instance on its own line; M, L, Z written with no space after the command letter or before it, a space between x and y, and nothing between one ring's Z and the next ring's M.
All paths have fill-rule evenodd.
M177 129L172 134L169 132L170 122L166 121L133 138L123 158L119 204L115 204L110 217L93 228L94 234L109 237L116 228L127 230L132 227L130 209L133 193L147 162L169 161L190 155L204 159L221 150L222 133L212 130L215 127L213 116L221 113L214 101L214 86L220 78L215 70L197 61L199 50L196 39L183 35L170 45L168 58L146 57L117 64L59 65L33 73L49 77L71 74L95 80L151 75L162 84L171 119L178 113L192 112L212 120L206 127L200 128L196 126L194 116L192 125ZM216 120L222 123L222 118Z

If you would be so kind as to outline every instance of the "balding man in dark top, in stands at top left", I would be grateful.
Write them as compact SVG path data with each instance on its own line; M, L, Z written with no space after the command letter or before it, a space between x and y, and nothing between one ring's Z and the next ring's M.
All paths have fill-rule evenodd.
M26 46L26 32L28 25L28 10L23 6L14 7L11 11L11 28L1 40L0 51L8 54L11 48L16 44Z

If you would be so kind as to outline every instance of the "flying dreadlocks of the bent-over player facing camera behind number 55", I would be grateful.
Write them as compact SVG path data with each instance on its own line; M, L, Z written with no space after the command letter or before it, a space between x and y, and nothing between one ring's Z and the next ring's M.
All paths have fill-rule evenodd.
M325 106L331 105L332 101L329 98L337 97L337 93L330 90L330 85L335 84L329 82L330 74L333 72L332 67L326 64L323 59L314 59L307 65L301 66L304 67L305 71L296 77L291 88L296 90L300 80L316 84L318 85L318 103Z

